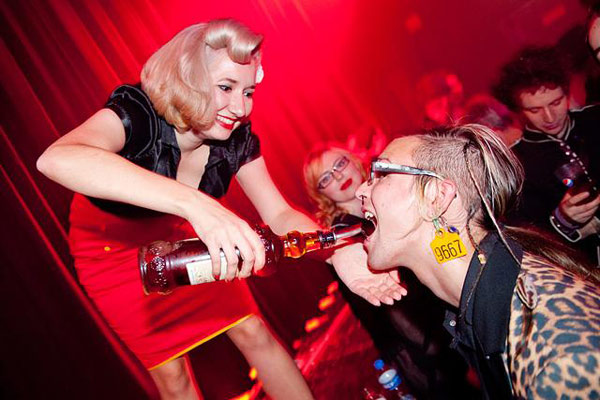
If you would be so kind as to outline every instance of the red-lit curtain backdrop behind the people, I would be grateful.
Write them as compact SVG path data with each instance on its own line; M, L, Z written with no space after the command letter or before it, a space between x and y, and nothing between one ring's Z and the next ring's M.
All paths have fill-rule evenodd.
M414 88L423 73L444 68L467 95L485 92L520 46L554 43L584 16L577 0L2 0L0 395L156 396L74 280L71 193L35 161L115 86L137 82L148 56L182 28L233 17L265 35L253 127L275 182L310 210L301 167L314 143L352 137L366 146L375 130L407 132L418 126ZM238 187L225 201L256 220ZM292 282L316 296L312 279ZM255 287L263 304L291 283L271 285Z

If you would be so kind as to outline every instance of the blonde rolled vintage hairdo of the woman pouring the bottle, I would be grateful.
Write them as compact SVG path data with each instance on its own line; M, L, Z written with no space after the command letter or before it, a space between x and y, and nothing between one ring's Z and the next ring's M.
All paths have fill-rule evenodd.
M260 64L262 36L231 19L189 26L144 64L142 90L154 108L180 131L202 131L214 123L207 47L227 49L232 61Z

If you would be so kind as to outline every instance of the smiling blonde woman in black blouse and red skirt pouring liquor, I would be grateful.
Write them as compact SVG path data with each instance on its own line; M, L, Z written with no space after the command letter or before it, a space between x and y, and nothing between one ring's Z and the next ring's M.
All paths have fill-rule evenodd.
M264 265L246 222L216 201L235 176L274 231L313 230L273 184L250 130L262 78L262 37L233 20L190 26L123 85L105 107L53 143L38 169L76 192L70 214L78 278L109 325L146 366L164 399L196 399L184 356L225 332L258 370L274 399L312 395L261 319L240 277ZM219 251L229 282L145 296L137 249L156 239L198 236Z

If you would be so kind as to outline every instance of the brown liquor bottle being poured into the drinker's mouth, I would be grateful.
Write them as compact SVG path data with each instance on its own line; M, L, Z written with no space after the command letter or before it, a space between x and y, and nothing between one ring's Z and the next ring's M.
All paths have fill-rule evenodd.
M254 230L265 246L265 266L257 275L265 276L276 270L282 257L299 258L312 251L330 248L341 239L358 235L362 227L353 225L339 230L306 233L292 231L284 236L275 235L268 226L257 226ZM146 294L169 294L179 286L215 281L210 254L200 239L152 242L140 248L138 261ZM241 265L240 258L238 268ZM224 279L226 271L227 260L221 251L221 279Z

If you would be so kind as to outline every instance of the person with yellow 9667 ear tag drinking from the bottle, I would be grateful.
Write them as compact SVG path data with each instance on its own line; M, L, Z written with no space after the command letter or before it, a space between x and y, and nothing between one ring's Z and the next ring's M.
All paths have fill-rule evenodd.
M598 396L600 271L499 222L524 174L493 131L472 124L396 139L370 178L357 191L376 225L364 242L370 267L404 265L447 303L444 327L485 398Z

